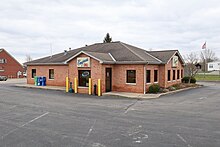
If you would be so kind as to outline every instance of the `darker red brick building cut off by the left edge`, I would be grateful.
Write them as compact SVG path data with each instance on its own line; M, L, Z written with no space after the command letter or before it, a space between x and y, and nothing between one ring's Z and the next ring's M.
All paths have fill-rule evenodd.
M0 49L0 76L22 78L23 66L5 49Z

